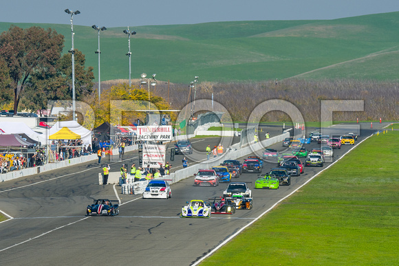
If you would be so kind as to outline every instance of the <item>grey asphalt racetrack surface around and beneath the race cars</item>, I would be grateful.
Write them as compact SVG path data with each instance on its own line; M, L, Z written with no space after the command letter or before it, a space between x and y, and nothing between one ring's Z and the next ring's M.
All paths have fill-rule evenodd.
M362 124L358 144L376 132ZM273 129L270 129L271 134ZM309 129L312 131L312 129ZM281 132L281 129L279 129ZM277 133L277 130L276 130ZM213 143L211 143L213 142ZM205 149L217 138L193 139L194 148ZM317 144L305 145L310 150ZM283 151L281 143L270 148ZM116 217L85 217L85 207L97 198L115 199L112 186L96 184L99 166L80 164L63 173L53 171L0 184L0 209L12 219L0 223L0 261L8 265L41 263L41 265L192 265L202 261L215 249L233 239L244 228L271 210L279 201L308 183L321 170L341 159L354 146L334 150L334 159L322 168L307 167L290 186L278 190L255 190L257 174L246 173L233 179L245 181L252 190L252 210L235 214L213 214L210 219L181 219L186 201L221 196L228 184L195 187L193 177L171 186L171 199L142 199L141 195L121 195L120 214ZM124 162L137 162L136 153L126 155ZM183 155L176 155L173 168L180 168ZM241 162L246 157L237 158ZM121 162L111 162L118 170ZM262 175L275 163L265 162ZM193 173L194 174L194 173ZM43 256L48 254L48 256ZM103 259L98 259L103 258Z

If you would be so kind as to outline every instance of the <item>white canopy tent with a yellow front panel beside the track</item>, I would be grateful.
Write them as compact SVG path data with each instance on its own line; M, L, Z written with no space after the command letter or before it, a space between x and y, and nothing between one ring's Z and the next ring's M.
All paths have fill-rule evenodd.
M83 140L83 145L91 144L93 133L76 121L56 122L49 130L49 140Z

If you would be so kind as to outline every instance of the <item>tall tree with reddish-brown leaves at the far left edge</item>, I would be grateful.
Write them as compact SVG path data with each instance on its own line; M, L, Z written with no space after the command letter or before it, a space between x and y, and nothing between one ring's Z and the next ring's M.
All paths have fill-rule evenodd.
M0 35L0 57L8 66L10 87L14 95L14 114L25 87L32 87L32 75L46 76L56 73L61 57L64 36L55 30L41 27L22 29L12 25Z

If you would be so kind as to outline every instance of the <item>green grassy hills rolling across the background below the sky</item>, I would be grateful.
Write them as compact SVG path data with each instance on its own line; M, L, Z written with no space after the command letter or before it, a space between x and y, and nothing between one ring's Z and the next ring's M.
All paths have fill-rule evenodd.
M355 78L397 81L399 12L315 21L233 21L131 27L132 78L142 72L159 80L260 81L275 78ZM11 23L0 23L0 31ZM70 25L52 27L71 47ZM126 27L100 33L101 79L129 78ZM97 32L74 25L75 48L98 73Z

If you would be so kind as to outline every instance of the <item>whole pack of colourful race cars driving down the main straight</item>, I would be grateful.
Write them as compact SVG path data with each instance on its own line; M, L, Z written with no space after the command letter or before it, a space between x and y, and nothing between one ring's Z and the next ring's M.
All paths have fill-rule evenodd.
M347 133L342 136L324 136L319 132L310 133L310 137L294 140L288 137L283 141L283 146L290 148L289 153L282 153L272 148L266 148L263 159L274 159L277 168L272 168L265 176L258 175L255 189L278 189L279 186L290 186L292 176L300 176L305 166L323 166L325 157L334 157L334 148L341 148L345 144L354 144L358 135ZM325 145L307 151L303 146L311 142ZM305 157L305 164L299 159ZM201 199L186 201L182 206L180 217L209 218L211 214L234 214L235 210L252 209L252 191L246 182L231 182L232 178L239 177L242 173L261 173L263 159L258 156L249 156L241 164L239 160L225 160L220 166L211 169L200 169L194 175L193 186L219 186L219 182L229 182L222 197L211 197L208 203ZM143 199L169 199L172 196L171 186L168 181L153 179L142 193ZM87 206L86 214L115 216L119 214L118 204L112 204L109 199L97 199Z

